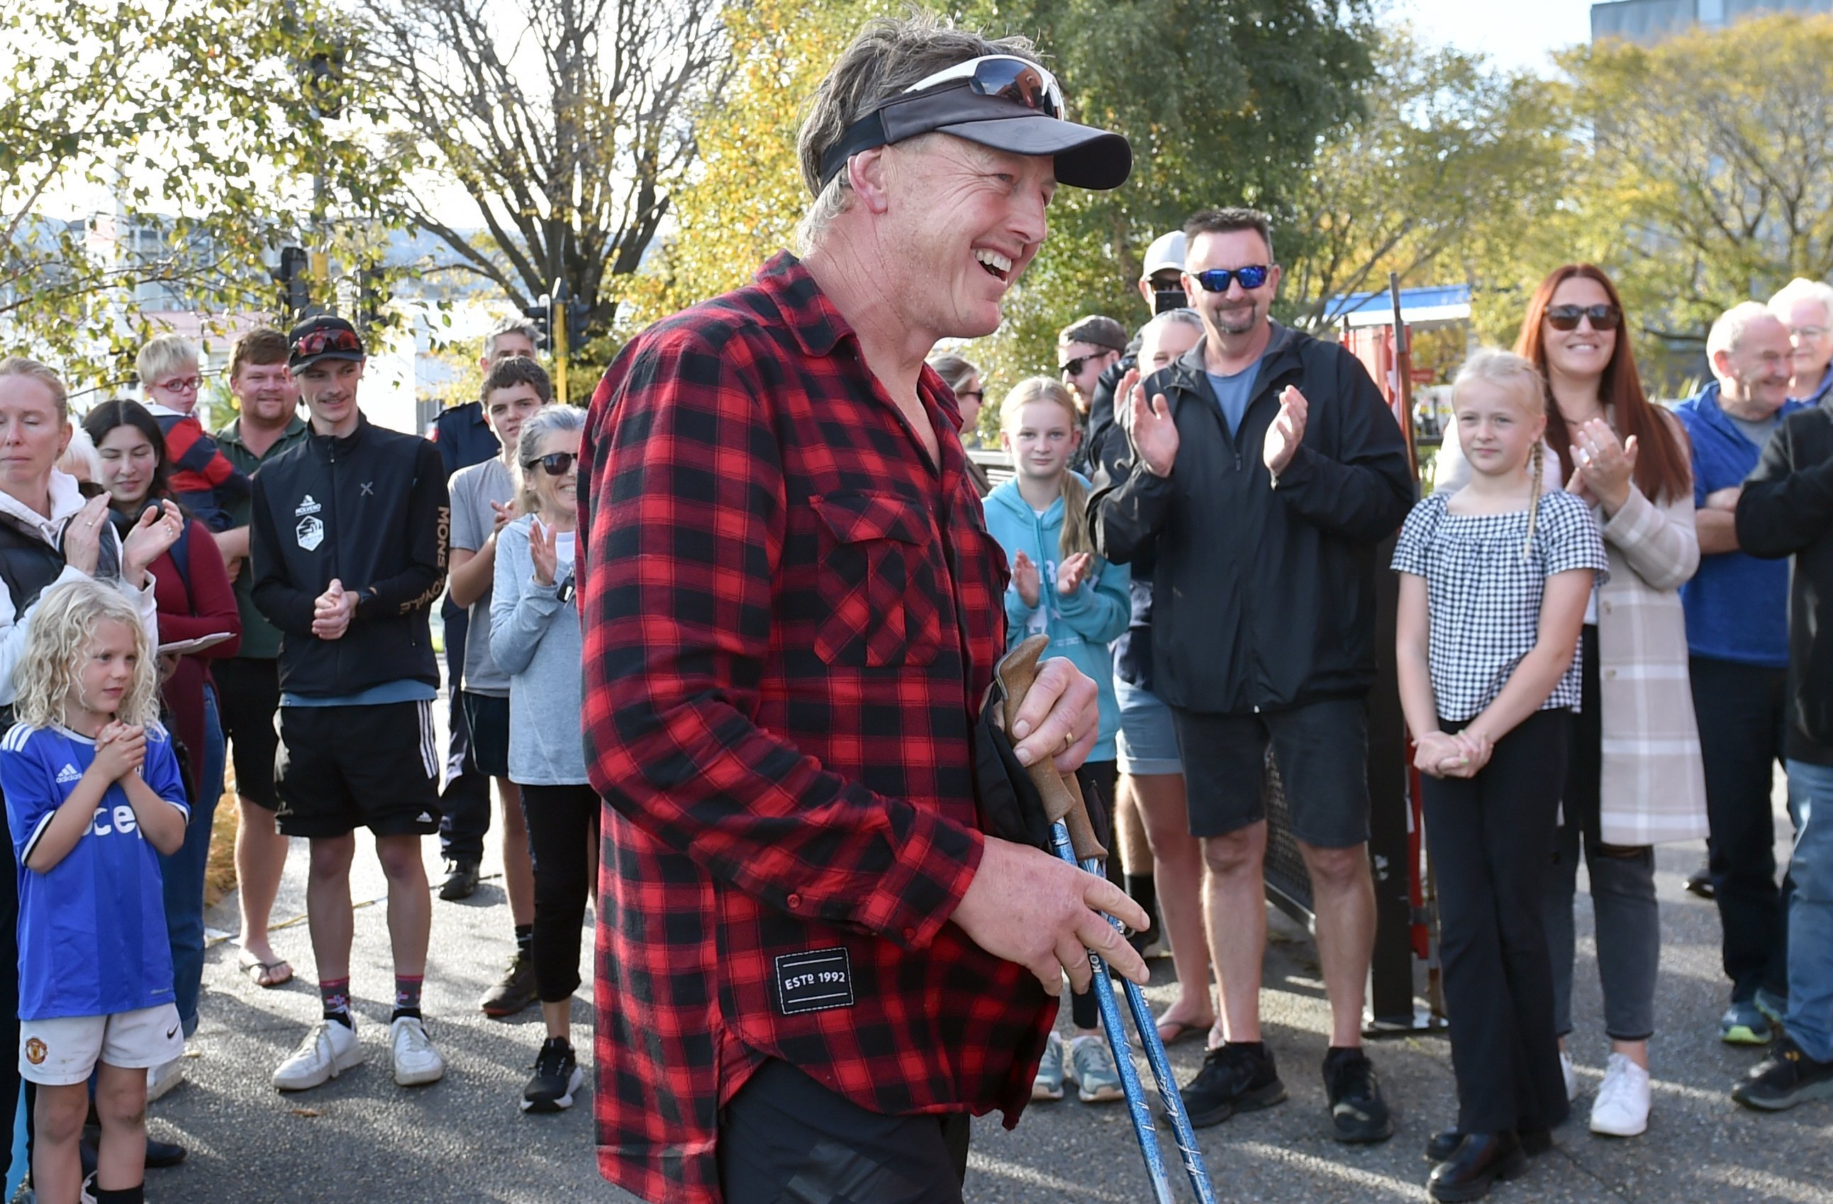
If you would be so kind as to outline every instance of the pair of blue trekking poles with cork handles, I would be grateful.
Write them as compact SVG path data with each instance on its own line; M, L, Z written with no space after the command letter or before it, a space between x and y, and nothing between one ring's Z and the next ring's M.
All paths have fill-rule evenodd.
M1017 717L1019 704L1025 700L1025 693L1037 676L1037 656L1047 645L1047 636L1032 636L999 662L997 673L1006 696L1004 718L1008 731ZM1048 761L1028 766L1026 773L1037 786L1039 795L1043 795L1045 814L1050 819L1050 845L1056 856L1100 876L1102 858L1107 850L1094 839L1094 828L1089 825L1089 812L1074 779L1065 779ZM1122 927L1113 916L1107 916L1107 922L1116 929ZM1164 1151L1158 1147L1151 1105L1146 1101L1146 1085L1133 1065L1133 1050L1127 1046L1125 1026L1120 1023L1120 1004L1114 1001L1114 986L1107 977L1107 962L1089 949L1089 968L1092 971L1091 986L1094 990L1094 1002L1102 1013L1102 1028L1107 1034L1107 1046L1114 1056L1114 1068L1120 1072L1120 1087L1125 1092L1127 1112L1133 1120L1133 1136L1138 1138L1140 1156L1146 1160L1146 1175L1151 1180L1153 1199L1157 1204L1171 1204L1171 1184L1164 1169ZM1197 1149L1197 1131L1191 1129L1190 1114L1184 1111L1184 1098L1179 1094L1177 1079L1171 1076L1171 1059L1166 1057L1164 1041L1158 1037L1158 1026L1153 1023L1146 993L1136 982L1122 979L1122 984L1125 988L1127 1012L1133 1013L1133 1028L1138 1030L1140 1046L1146 1050L1146 1063L1151 1067L1153 1081L1158 1089L1158 1100L1171 1118L1171 1131L1177 1138L1177 1151L1184 1162L1184 1173L1190 1177L1190 1186L1197 1193L1199 1204L1217 1204L1215 1188L1210 1184L1210 1171L1202 1162L1202 1153Z

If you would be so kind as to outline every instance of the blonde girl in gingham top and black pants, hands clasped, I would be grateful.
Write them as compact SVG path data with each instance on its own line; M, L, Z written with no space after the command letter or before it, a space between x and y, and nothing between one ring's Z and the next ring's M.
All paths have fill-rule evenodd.
M1569 1109L1540 898L1578 706L1578 629L1608 561L1586 504L1542 486L1547 414L1531 363L1477 352L1452 410L1470 484L1413 508L1393 568L1457 1072L1457 1125L1428 1147L1430 1188L1474 1200L1525 1169Z

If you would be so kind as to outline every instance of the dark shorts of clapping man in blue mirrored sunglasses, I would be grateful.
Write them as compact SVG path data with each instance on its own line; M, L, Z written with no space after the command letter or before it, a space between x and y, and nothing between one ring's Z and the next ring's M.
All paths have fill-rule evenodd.
M1312 848L1369 837L1369 718L1360 698L1325 698L1290 711L1201 715L1171 707L1184 757L1191 836L1228 836L1267 819L1272 750L1292 836Z

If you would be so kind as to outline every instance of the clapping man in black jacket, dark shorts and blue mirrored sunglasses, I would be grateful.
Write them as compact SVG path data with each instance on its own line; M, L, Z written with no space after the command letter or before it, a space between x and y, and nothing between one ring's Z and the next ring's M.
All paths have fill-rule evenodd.
M1279 268L1267 216L1208 211L1184 233L1204 337L1144 387L1122 381L1129 449L1091 500L1102 555L1157 548L1153 684L1171 706L1208 869L1226 1043L1184 1101L1191 1122L1213 1125L1285 1098L1259 1034L1270 746L1318 916L1334 1134L1384 1140L1393 1122L1360 1048L1375 942L1364 698L1375 544L1406 519L1413 478L1362 365L1268 319Z

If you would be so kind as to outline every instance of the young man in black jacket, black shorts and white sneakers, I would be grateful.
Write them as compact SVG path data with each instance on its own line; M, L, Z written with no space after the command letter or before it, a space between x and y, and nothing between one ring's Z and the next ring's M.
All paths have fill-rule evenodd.
M363 1061L350 1012L350 859L376 837L394 946L394 1081L445 1063L420 1019L433 902L420 843L440 826L427 612L445 585L451 506L438 447L372 427L356 405L363 341L341 317L288 335L312 436L255 478L255 607L280 629L280 832L312 841L306 911L321 1019L273 1072L302 1090Z

